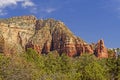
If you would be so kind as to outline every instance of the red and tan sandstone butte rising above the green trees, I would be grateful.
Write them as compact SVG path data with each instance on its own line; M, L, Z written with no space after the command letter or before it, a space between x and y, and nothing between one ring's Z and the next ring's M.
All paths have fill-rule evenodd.
M107 58L108 52L103 40L88 44L75 36L63 22L54 19L38 20L33 15L0 19L0 53L10 55L21 53L27 48L39 54L56 50L70 57L83 53Z

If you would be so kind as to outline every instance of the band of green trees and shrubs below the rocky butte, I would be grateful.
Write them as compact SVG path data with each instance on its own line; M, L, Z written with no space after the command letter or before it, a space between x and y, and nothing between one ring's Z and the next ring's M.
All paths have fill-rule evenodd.
M120 80L120 57L98 59L84 54L70 58L56 51L38 55L34 50L0 55L0 80Z

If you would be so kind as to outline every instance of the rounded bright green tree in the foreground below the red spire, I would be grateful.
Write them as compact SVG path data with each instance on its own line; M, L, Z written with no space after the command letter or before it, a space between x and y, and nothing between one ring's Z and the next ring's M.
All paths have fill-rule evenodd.
M77 61L77 73L80 80L106 80L105 68L99 63L94 55L84 54Z

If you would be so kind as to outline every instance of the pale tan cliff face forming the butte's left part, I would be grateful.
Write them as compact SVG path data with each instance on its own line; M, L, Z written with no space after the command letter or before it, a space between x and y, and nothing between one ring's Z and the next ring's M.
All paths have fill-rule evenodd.
M35 32L34 16L21 16L0 20L0 33L4 38L4 53L24 51L29 38Z

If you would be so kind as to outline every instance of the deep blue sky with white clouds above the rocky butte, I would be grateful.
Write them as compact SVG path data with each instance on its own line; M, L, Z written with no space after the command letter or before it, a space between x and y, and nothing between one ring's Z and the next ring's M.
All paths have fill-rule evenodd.
M120 47L120 0L0 0L0 18L31 14L64 22L88 43Z

